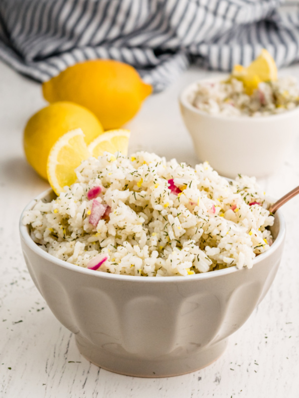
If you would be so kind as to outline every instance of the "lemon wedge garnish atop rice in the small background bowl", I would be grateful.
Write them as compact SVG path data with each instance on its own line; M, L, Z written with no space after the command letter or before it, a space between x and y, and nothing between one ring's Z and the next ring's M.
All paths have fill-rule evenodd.
M251 95L259 87L261 82L277 80L277 67L269 52L263 49L261 54L248 68L242 65L235 65L232 76L241 80L246 93Z

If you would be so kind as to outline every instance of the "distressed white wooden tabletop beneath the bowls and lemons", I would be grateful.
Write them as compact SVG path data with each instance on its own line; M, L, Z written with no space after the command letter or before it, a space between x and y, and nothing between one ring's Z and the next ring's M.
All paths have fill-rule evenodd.
M299 78L299 66L281 73ZM207 74L191 69L145 102L128 124L130 152L145 149L195 164L177 96ZM22 150L24 124L44 104L39 84L0 63L0 398L298 398L299 197L283 208L286 246L271 290L215 363L184 376L142 379L99 369L80 355L33 285L18 235L22 208L48 187ZM281 170L260 183L277 198L299 185L299 137Z

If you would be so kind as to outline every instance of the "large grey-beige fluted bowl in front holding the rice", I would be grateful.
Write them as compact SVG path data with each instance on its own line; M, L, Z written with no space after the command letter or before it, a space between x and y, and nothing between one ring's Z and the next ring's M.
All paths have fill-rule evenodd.
M25 210L38 199L53 198L47 190ZM227 337L274 280L285 238L280 211L272 233L273 245L252 269L156 278L113 275L56 259L33 242L20 221L31 278L56 318L75 334L82 355L104 369L141 377L193 372L223 353Z

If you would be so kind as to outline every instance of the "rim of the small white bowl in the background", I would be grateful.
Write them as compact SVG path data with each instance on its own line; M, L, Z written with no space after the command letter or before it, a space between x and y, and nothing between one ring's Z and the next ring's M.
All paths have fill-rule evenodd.
M229 75L219 75L211 78L205 78L205 79L198 79L195 80L193 83L190 83L187 85L184 89L181 90L178 100L179 103L187 108L188 110L201 115L205 116L209 119L216 119L216 120L221 120L221 121L232 121L232 122L239 122L239 121L246 121L246 123L265 123L268 122L269 120L278 120L278 119L285 119L287 117L291 117L296 113L299 113L299 105L296 106L294 109L287 110L286 112L283 113L277 113L273 115L268 115L268 116L261 116L261 117L253 117L253 116L248 116L248 115L241 115L241 116L223 116L223 115L214 115L214 114L209 114L207 112L204 112L203 110L197 109L195 106L193 106L190 101L188 101L187 96L190 95L192 92L195 91L197 85L202 82L218 82L221 80L224 80L225 77L228 77Z

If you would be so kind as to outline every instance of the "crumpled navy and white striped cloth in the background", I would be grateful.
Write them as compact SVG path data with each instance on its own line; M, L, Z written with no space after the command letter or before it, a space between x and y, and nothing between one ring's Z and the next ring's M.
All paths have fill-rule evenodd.
M298 6L280 0L0 0L0 58L43 82L77 62L133 65L155 91L191 62L229 71L267 48L299 60Z

